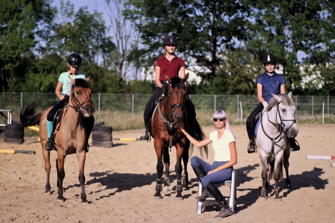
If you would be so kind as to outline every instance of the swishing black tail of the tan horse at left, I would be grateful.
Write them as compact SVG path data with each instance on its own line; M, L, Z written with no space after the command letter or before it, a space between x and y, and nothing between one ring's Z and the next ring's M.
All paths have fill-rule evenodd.
M24 105L20 112L20 122L24 127L40 124L42 112L38 112L37 103Z

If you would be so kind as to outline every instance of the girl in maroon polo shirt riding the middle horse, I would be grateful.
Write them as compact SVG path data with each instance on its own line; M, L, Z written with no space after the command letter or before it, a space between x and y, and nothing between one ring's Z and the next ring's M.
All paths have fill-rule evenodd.
M160 97L162 93L165 92L167 81L164 77L164 73L169 76L170 78L178 77L180 71L180 77L185 77L185 63L184 60L178 58L175 54L175 51L178 47L177 38L173 35L167 35L163 39L163 47L164 47L164 55L161 58L158 58L155 65L156 71L156 78L155 82L157 85L156 91L153 93L151 98L149 99L148 103L145 106L144 110L144 125L145 125L145 132L141 135L140 140L142 141L150 141L150 127L151 127L151 107L155 100L155 98ZM186 85L186 83L185 83ZM187 105L186 105L187 104ZM195 117L195 110L192 102L189 100L185 100L185 107L188 109L188 114L194 113ZM189 111L190 110L190 111ZM193 116L191 116L193 117Z

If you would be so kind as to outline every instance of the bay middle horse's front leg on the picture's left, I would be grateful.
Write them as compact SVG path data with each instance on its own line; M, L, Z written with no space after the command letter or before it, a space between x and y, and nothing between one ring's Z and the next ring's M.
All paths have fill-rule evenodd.
M156 150L156 155L157 155L157 166L156 166L156 170L157 170L157 179L156 179L156 193L153 196L154 198L157 199L161 199L162 196L160 195L160 192L162 191L162 185L161 185L161 181L162 181L162 174L163 174L163 162L162 162L162 153L163 153L163 142L160 139L155 138L154 139L154 146L155 146L155 150Z

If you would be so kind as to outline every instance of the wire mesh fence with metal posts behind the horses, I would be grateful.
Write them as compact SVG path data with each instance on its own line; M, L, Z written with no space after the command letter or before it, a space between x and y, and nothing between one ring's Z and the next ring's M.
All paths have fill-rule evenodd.
M116 123L122 122L124 128L138 128L143 125L143 112L151 95L144 94L92 94L91 99L96 109L96 121ZM190 95L197 112L197 119L208 122L216 110L229 114L230 120L245 122L256 108L256 95ZM335 115L335 96L293 96L296 106L296 118L306 119ZM59 99L54 93L11 92L0 93L0 109L11 109L13 120L18 120L24 104L36 101L41 110L55 105ZM324 113L323 113L324 112ZM6 120L1 117L1 123ZM126 122L126 124L124 124ZM204 124L204 123L203 123Z

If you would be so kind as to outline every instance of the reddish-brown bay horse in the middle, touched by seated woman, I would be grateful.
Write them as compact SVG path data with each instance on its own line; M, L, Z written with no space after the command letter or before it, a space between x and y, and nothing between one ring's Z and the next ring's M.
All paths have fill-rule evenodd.
M181 161L184 161L184 186L188 184L187 176L187 162L189 157L190 141L180 130L185 129L189 134L193 131L199 136L200 140L205 138L205 135L199 126L195 117L187 115L187 108L185 109L186 101L186 86L185 81L188 79L187 74L183 78L174 77L169 78L165 75L165 79L169 82L167 88L165 89L165 96L159 102L157 108L152 115L151 123L151 135L154 138L154 147L157 155L157 179L156 179L156 193L154 198L161 199L160 192L162 191L161 177L163 173L163 150L164 150L164 163L165 163L165 178L164 178L164 188L168 188L170 185L169 178L169 166L170 166L170 156L167 149L168 145L175 145L177 150L177 163L175 165L175 170L177 173L177 195L176 200L183 200L182 191L182 165ZM192 122L193 120L193 122ZM193 124L194 123L194 124ZM164 148L165 147L165 148ZM171 149L171 147L170 147ZM193 150L193 144L190 151ZM208 153L207 146L199 148L202 155L203 152ZM166 156L166 157L165 157Z

